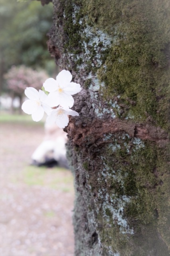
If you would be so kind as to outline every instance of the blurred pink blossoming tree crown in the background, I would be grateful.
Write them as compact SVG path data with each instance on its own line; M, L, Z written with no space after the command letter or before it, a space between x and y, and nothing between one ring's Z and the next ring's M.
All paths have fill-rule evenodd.
M36 71L26 66L12 66L5 74L4 78L7 81L7 86L10 90L18 95L23 95L26 87L34 87L41 89L43 82L48 78L45 71Z

